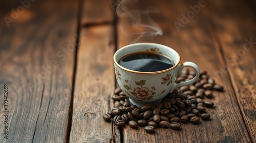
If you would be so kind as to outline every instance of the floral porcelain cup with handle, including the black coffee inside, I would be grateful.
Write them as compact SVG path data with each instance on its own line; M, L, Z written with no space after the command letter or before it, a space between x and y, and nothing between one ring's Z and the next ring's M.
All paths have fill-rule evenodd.
M135 43L118 49L114 54L116 80L131 104L141 107L161 101L168 93L194 83L199 75L195 63L180 64L174 49L157 43ZM175 83L184 67L195 69L196 76Z

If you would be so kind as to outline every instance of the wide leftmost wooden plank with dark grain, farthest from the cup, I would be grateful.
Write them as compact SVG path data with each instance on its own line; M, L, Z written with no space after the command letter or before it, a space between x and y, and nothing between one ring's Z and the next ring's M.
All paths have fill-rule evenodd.
M65 142L68 130L77 26L77 1L5 2L1 17L1 113L8 84L8 139ZM19 16L13 17L11 9ZM24 10L24 11L23 11ZM69 49L68 49L69 48ZM63 51L66 50L66 51ZM4 116L0 116L1 122ZM0 125L4 129L4 124Z

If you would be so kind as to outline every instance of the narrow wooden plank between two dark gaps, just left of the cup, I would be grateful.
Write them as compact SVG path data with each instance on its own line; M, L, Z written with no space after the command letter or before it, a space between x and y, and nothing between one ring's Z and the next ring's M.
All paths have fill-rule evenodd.
M120 142L118 128L102 119L115 89L114 14L108 1L84 2L70 142Z

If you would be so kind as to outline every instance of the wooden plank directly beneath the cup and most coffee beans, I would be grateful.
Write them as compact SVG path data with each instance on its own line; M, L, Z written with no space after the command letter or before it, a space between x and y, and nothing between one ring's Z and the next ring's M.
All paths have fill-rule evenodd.
M208 3L208 2L207 2ZM143 4L136 4L146 6ZM191 61L200 69L211 71L221 70L224 63L220 59L219 51L215 45L215 37L212 35L207 18L202 12L195 14L184 27L177 31L174 22L181 23L181 14L190 11L190 5L198 5L198 1L186 3L185 1L151 1L148 5L155 6L160 13L151 13L152 19L162 28L163 36L157 36L153 41L149 37L143 37L140 42L156 42L170 46L177 50L181 56L181 62ZM210 1L209 4L210 5ZM203 7L207 8L207 6ZM203 9L202 8L202 9ZM122 17L118 20L118 47L131 43L139 35L125 35L120 26L126 32L143 32L147 28L134 28L129 23L129 18ZM145 22L145 21L143 21ZM137 41L138 42L138 41ZM157 129L155 134L148 134L142 128L138 130L125 126L123 128L123 142L250 142L246 126L240 115L240 109L232 90L232 84L227 73L223 73L221 79L216 82L224 85L225 92L214 92L212 101L215 108L208 108L211 114L210 121L202 121L199 125L182 124L180 131L170 129Z

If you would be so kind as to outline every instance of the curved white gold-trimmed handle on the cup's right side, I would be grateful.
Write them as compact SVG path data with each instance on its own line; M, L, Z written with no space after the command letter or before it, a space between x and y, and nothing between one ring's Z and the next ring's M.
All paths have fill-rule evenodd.
M177 89L177 88L179 88L179 87L192 84L192 83L194 83L194 82L198 79L198 77L199 77L199 75L200 75L200 71L199 71L199 67L198 67L195 63L192 63L192 62L184 62L184 63L181 64L181 66L179 67L177 74L180 74L181 70L182 70L184 67L191 67L191 68L195 69L195 71L196 71L196 76L195 76L194 78L188 80L188 81L183 81L183 82L180 82L180 83L177 83L177 84L175 83L173 89Z

